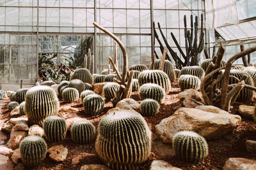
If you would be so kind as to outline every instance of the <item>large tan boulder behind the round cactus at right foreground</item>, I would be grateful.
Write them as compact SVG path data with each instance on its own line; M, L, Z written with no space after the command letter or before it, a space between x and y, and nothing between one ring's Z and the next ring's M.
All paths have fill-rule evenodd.
M194 131L206 139L218 139L232 132L240 121L239 115L231 115L214 106L179 108L172 116L156 125L156 133L164 143L172 143L174 134L180 131Z

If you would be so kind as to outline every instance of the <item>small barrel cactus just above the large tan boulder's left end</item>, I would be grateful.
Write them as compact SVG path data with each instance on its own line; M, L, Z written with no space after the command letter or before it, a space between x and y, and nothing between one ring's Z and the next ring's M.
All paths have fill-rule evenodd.
M154 99L145 99L140 103L141 115L145 117L151 117L156 115L159 111L159 103Z

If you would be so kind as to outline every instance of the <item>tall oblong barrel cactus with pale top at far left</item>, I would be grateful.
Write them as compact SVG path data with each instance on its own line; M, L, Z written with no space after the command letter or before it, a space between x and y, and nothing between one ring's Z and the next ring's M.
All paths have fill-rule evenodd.
M42 125L46 117L58 115L60 103L56 92L51 87L31 87L25 101L25 112L31 125Z

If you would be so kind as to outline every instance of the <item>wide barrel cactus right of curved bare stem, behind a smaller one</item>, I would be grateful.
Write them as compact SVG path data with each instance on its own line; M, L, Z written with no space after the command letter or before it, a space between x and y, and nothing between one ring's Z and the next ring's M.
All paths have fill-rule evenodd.
M155 83L163 87L166 93L168 93L171 89L171 83L167 74L161 70L142 71L138 77L138 81L140 86L145 83Z

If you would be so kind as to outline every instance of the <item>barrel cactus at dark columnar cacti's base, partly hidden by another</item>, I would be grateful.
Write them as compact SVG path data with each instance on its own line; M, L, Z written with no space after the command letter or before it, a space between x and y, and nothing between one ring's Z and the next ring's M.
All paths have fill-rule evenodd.
M183 67L180 70L179 76L184 75L184 74L197 76L200 79L200 81L202 81L205 73L204 73L204 69L202 69L202 67L200 67L200 66L187 66L187 67Z

